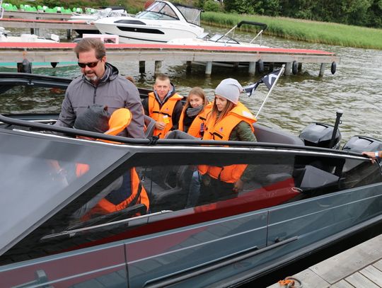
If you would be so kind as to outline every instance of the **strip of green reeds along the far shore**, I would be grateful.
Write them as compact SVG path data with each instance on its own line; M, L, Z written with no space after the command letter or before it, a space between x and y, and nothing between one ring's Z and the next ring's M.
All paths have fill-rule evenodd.
M266 23L268 28L265 31L265 35L328 45L382 50L382 29L284 17L238 15L218 12L202 13L202 23L208 25L231 28L240 21ZM251 25L243 25L241 27L241 30L250 31L255 29L256 28Z

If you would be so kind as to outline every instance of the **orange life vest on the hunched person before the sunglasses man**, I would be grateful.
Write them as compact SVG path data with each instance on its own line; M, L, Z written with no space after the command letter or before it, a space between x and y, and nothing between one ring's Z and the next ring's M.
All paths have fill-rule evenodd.
M126 108L120 108L114 111L110 116L109 120L109 129L105 132L108 135L117 135L123 131L132 121L132 113ZM110 142L108 140L98 139L103 142ZM117 143L117 142L111 142ZM76 175L80 177L84 173L87 173L89 170L89 166L84 163L76 164ZM125 209L129 206L136 205L138 203L146 205L147 209L149 209L149 197L147 195L146 190L141 185L141 181L139 179L138 173L135 168L130 169L130 178L131 178L131 195L120 202L117 205L112 204L105 198L101 199L95 207L91 209L88 213L83 216L83 221L90 219L93 214L109 214L111 212L119 211L121 209ZM128 188L126 188L128 189Z

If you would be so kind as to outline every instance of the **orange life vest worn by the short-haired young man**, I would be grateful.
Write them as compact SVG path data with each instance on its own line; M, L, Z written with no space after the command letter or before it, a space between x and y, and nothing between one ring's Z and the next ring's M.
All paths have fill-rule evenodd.
M158 100L156 100L155 98L154 92L149 93L149 116L157 122L166 123L165 129L154 129L154 136L164 138L166 133L170 131L170 129L173 127L173 112L175 105L176 103L178 103L179 100L182 99L183 96L180 96L177 93L175 93L173 96L170 96L170 98L168 98L166 102L163 103L163 106L160 108ZM164 120L163 116L167 117L166 121Z

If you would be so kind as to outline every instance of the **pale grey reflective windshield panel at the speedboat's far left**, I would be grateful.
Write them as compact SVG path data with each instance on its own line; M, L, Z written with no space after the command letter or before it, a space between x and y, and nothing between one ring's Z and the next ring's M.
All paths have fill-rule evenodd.
M111 145L0 132L0 254L124 154Z

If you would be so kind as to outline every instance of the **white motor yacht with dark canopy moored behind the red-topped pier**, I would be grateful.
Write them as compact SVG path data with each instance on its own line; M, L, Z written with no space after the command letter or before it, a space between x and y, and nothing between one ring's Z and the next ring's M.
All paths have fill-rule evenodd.
M204 32L199 8L155 1L134 17L108 17L94 22L103 34L120 36L122 43L158 43L174 38L196 38Z

